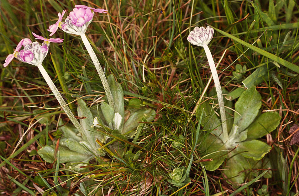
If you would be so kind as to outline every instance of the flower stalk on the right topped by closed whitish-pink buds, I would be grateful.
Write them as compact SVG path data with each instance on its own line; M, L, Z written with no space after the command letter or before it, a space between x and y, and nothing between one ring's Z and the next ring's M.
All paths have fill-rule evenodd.
M205 50L205 53L206 53L207 59L208 59L208 63L210 65L212 77L213 77L213 80L215 83L217 97L218 97L223 137L224 137L225 141L228 141L228 131L227 131L227 126L226 126L226 117L225 117L221 85L219 82L217 70L215 67L215 63L214 63L211 51L210 51L209 47L207 46L210 43L211 39L213 38L213 34L214 34L214 29L209 26L207 26L207 28L195 27L194 30L190 32L187 40L193 45L202 46L203 49Z

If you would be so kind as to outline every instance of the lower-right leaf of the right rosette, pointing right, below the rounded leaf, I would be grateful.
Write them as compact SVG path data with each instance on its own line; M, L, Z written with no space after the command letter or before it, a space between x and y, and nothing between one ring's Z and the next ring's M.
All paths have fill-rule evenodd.
M236 148L236 151L242 152L242 156L254 160L260 160L265 154L269 153L270 150L271 146L256 139L240 142L239 146Z

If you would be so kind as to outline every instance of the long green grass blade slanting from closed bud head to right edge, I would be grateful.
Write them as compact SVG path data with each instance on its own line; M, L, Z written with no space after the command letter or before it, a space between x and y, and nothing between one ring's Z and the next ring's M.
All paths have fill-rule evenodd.
M289 69L293 70L296 73L299 73L299 66L297 66L297 65L295 65L293 63L290 63L290 62L288 62L288 61L286 61L286 60L284 60L284 59L282 59L280 57L277 57L275 54L271 54L271 53L269 53L269 52L267 52L265 50L262 50L262 49L260 49L260 48L258 48L256 46L253 46L250 43L247 43L247 42L245 42L245 41L243 41L243 40L241 40L241 39L239 39L239 38L237 38L237 37L235 37L235 36L233 36L233 35L231 35L229 33L226 33L224 31L218 29L218 28L215 28L215 27L212 27L212 28L214 28L214 30L218 31L222 35L224 35L224 36L226 36L228 38L231 38L233 41L235 41L237 43L240 43L240 44L244 45L245 47L247 47L247 48L249 48L249 49L251 49L251 50L253 50L253 51L257 52L257 53L260 53L261 55L263 55L263 56L265 56L267 58L270 58L273 61L276 61L280 65L285 66L286 68L289 68Z

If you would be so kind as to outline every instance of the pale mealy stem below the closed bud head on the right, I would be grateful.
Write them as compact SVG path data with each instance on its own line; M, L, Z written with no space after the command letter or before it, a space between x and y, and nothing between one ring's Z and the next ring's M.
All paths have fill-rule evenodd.
M226 118L225 118L225 110L224 110L224 102L223 102L223 96L222 96L222 90L221 90L221 85L219 82L217 70L215 67L215 63L211 54L211 51L207 44L203 45L203 48L206 52L207 59L210 65L212 77L215 83L215 88L217 92L217 97L218 97L218 103L219 103L219 109L220 109L220 116L221 116L221 122L222 122L222 131L223 131L223 138L224 140L228 141L228 131L227 131L227 126L226 126ZM224 141L224 142L226 142Z

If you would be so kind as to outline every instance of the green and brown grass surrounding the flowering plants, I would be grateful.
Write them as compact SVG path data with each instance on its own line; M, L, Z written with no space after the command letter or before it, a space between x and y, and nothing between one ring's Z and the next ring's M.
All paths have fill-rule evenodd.
M125 106L128 99L139 98L157 112L155 121L146 123L134 139L141 150L123 143L125 150L140 155L127 164L126 155L118 158L107 153L90 162L89 173L80 174L59 161L44 163L36 150L55 137L58 118L68 118L60 109L28 107L56 108L59 104L38 68L13 60L8 67L1 67L0 74L1 194L101 195L110 189L114 195L213 195L219 191L227 191L224 195L256 195L263 184L268 185L270 194L298 191L298 144L280 142L299 121L299 7L295 1L92 2L109 13L95 14L86 33L103 69L121 83ZM1 63L22 38L33 40L31 32L48 37L46 29L57 20L57 12L67 10L66 17L74 3L96 7L84 1L1 0ZM266 155L272 177L264 178L264 171L258 171L260 178L250 181L249 186L232 186L221 169L206 171L200 162L202 154L196 147L193 150L204 137L198 126L201 114L192 111L201 95L203 101L210 98L213 82L204 92L211 76L207 59L203 48L191 45L186 38L195 26L207 25L215 28L209 48L216 64L227 49L218 67L222 86L230 93L239 91L244 88L241 82L248 78L245 82L257 85L262 95L262 110L276 109L283 119L281 127L262 139L273 147ZM84 95L93 95L85 98L89 105L99 101L95 95L104 96L104 89L80 37L61 30L53 37L64 38L64 42L50 44L51 54L43 65L67 102ZM246 65L240 80L232 74L237 63ZM262 77L254 73L257 69ZM76 116L76 102L70 106ZM12 154L20 134L40 117L44 120L34 124ZM174 147L179 135L184 140ZM168 182L169 173L180 166L189 166L191 179L181 190ZM95 177L88 178L92 174Z

